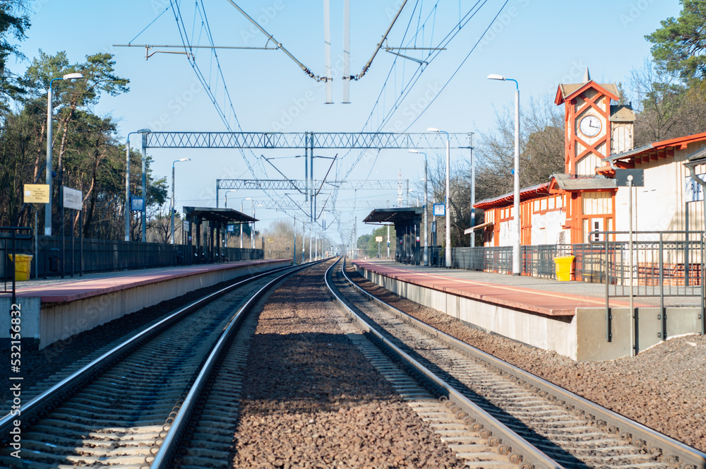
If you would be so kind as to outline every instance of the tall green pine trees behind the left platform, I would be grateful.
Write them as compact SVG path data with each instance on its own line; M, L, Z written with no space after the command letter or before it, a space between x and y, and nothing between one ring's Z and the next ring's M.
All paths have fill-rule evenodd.
M88 54L85 60L69 61L66 52L40 50L22 75L11 73L9 57L26 59L11 43L23 40L30 20L24 0L0 4L0 225L33 225L32 206L23 203L24 184L44 184L47 174L47 91L53 78L81 73L83 79L55 80L52 85L52 226L59 227L61 186L83 194L83 225L74 212L67 229L83 231L84 237L124 239L126 148L119 140L117 121L95 112L101 97L127 93L128 79L117 76L112 54ZM142 155L131 150L130 191L142 196ZM153 211L167 201L167 179L156 177L147 158L145 198ZM43 206L37 210L44 225ZM133 215L131 239L140 239L139 212ZM56 231L54 231L56 232Z

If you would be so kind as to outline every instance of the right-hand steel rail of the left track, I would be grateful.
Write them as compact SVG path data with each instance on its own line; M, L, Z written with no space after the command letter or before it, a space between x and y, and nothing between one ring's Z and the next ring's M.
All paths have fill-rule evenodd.
M325 261L328 261L328 259L290 268L289 271L268 282L267 285L258 290L255 295L253 295L240 309L238 309L225 331L223 331L220 338L211 349L208 358L206 358L203 363L201 371L198 373L196 380L191 385L189 393L186 395L186 398L184 398L184 402L181 403L181 406L179 407L179 412L174 417L174 422L172 422L171 427L169 427L169 431L164 436L164 442L160 445L159 451L157 451L154 460L150 463L150 469L167 469L173 467L172 458L174 458L174 454L176 453L179 443L181 442L181 437L184 434L186 427L189 425L189 420L193 414L193 410L196 408L196 405L198 405L198 401L201 398L201 393L203 393L203 388L205 388L208 379L213 372L213 367L215 367L215 364L220 356L227 350L227 346L231 342L230 339L234 333L238 331L243 319L247 314L249 314L253 305L256 304L256 302L258 302L263 295L265 295L265 292L268 292L273 285L280 282L283 278Z

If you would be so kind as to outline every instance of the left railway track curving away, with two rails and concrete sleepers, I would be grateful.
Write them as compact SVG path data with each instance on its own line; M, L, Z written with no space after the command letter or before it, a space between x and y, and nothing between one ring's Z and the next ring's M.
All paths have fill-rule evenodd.
M187 424L213 386L222 352L237 347L231 339L247 312L301 268L255 275L192 302L33 398L23 405L29 425L21 458L4 451L0 466L172 467L182 438L194 437ZM16 418L0 420L1 435Z

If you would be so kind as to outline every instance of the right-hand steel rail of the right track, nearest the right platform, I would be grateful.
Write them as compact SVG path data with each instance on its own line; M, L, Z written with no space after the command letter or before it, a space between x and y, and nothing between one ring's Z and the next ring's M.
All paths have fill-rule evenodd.
M556 403L563 403L563 408L566 410L573 410L575 412L578 411L580 415L587 416L589 420L596 422L599 426L607 427L609 429L609 433L618 434L621 439L632 441L632 443L635 444L635 446L638 446L638 448L645 448L650 453L655 450L662 451L662 457L664 460L677 461L679 468L706 469L706 453L683 444L681 441L677 441L676 439L668 437L665 434L659 433L650 427L642 425L640 422L635 422L635 420L631 420L628 417L614 412L613 410L604 408L602 405L594 403L591 400L582 398L581 396L578 396L578 394L572 393L561 386L550 383L549 381L527 372L524 369L515 367L515 365L505 362L498 357L493 357L493 355L462 342L447 333L443 333L442 331L429 326L429 324L410 316L404 311L400 311L390 304L383 302L381 299L376 298L363 290L348 277L345 273L345 261L342 272L346 280L348 280L351 285L366 295L366 297L372 299L373 302L380 304L382 307L395 314L398 319L401 319L415 328L435 336L438 340L443 340L452 347L457 348L468 355L472 355L473 357L483 360L491 367L498 369L501 374L517 377L518 384L524 384L525 388L532 388L534 392L539 393L541 396L554 396L556 398Z

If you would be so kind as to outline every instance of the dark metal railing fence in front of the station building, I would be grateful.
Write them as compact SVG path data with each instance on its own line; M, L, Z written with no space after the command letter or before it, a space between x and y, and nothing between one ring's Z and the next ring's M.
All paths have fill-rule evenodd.
M613 232L611 232L613 233ZM571 280L608 283L611 296L627 296L629 285L642 296L700 296L706 260L701 232L635 232L633 267L628 242L546 244L520 247L520 274L556 279L554 259L573 256ZM654 239L647 239L653 237ZM442 247L429 249L429 265L445 267ZM513 248L451 249L451 267L470 271L512 273Z

